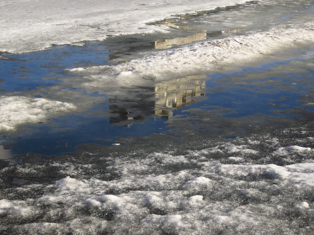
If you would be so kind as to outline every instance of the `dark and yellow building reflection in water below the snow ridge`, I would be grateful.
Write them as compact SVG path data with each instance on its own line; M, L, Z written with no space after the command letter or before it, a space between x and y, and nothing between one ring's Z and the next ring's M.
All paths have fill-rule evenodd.
M112 98L109 100L109 109L115 116L112 115L109 122L130 127L156 115L169 118L176 109L194 102L196 97L205 96L204 80L205 76L187 76L158 82L151 88L137 88L133 100Z

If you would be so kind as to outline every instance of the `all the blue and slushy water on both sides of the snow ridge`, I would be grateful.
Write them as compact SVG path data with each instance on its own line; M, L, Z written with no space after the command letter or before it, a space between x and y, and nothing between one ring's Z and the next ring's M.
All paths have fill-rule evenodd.
M1 95L31 94L72 102L79 109L2 135L2 145L10 148L11 155L60 155L83 143L123 144L121 137L127 136L167 133L186 138L187 126L193 129L191 133L219 130L219 136L235 138L252 126L244 128L247 119L241 118L262 123L269 117L283 117L288 122L306 110L313 111L313 48L275 55L262 65L233 72L157 81L153 87L117 86L116 91L81 87L85 78L69 76L64 69L115 65L194 41L285 27L310 20L312 12L312 1L251 2L156 23L171 27L170 35L119 36L84 46L5 55L8 59L0 60ZM193 119L200 113L203 118ZM212 123L207 125L209 120ZM234 132L239 126L241 131Z

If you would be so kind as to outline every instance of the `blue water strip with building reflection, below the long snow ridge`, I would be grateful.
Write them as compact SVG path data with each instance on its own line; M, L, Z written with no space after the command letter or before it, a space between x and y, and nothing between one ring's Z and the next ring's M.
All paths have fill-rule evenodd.
M194 116L195 113L189 110L195 109L220 112L218 116L208 113L208 118L223 126L227 124L222 117L241 118L254 114L294 117L296 113L285 113L284 110L293 107L314 110L310 101L304 101L305 96L311 95L314 81L313 56L308 57L306 60L299 56L265 63L231 73L158 82L155 87L137 87L134 91L122 88L125 91L121 96L104 95L105 102L84 112L30 126L16 135L4 136L7 138L4 143L12 145L14 154L61 154L75 151L78 144L112 144L117 136L145 136L169 131L173 127L168 124L173 118L177 115ZM99 96L95 97L99 99ZM233 127L233 124L229 125ZM180 137L177 133L168 134Z

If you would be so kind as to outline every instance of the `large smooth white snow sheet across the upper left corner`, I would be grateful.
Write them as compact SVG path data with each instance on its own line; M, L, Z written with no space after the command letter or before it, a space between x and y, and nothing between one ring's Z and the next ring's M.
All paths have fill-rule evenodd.
M1 3L0 51L23 53L52 44L102 40L107 35L166 32L145 23L175 14L194 13L244 0L23 0Z

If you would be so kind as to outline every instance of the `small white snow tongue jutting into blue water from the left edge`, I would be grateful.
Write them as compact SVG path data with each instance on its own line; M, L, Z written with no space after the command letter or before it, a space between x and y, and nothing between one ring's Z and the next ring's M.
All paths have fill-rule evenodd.
M73 104L44 98L0 96L0 102L0 132L14 131L21 125L43 122L47 117L75 109Z

